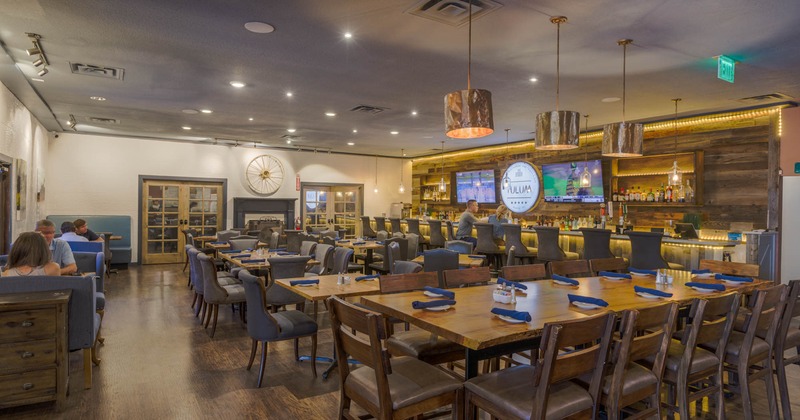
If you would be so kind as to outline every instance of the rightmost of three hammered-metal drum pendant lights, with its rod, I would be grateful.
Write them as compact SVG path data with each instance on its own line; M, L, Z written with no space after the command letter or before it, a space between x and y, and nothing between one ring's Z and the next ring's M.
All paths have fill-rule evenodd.
M603 156L636 157L642 155L644 127L642 124L625 122L625 73L628 44L630 39L620 39L622 46L622 122L606 124L603 127Z

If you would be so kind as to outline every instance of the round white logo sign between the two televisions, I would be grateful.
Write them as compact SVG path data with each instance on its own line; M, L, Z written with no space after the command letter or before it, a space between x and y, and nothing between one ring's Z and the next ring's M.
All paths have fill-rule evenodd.
M514 213L525 213L539 202L542 176L528 162L515 162L506 169L500 181L503 204Z

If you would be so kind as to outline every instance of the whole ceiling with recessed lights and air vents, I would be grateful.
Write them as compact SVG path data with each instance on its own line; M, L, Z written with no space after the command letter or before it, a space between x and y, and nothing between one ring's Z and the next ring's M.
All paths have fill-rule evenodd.
M800 95L798 0L496 1L472 25L472 87L492 92L495 124L477 140L444 135L444 95L467 84L467 25L412 15L419 0L2 0L0 80L56 132L74 115L81 133L285 147L295 128L304 148L418 156L442 140L448 150L504 143L506 128L511 141L532 138L535 115L555 108L549 17L564 15L560 104L589 114L590 127L622 119L621 102L601 102L622 96L620 38L634 41L627 120L669 118L675 97L689 115ZM459 2L434 8L447 3ZM249 32L251 21L275 31ZM42 36L50 61L41 82L26 32ZM736 83L716 78L719 54L738 61ZM121 68L124 78L72 74L70 63ZM388 109L350 111L358 105ZM182 112L206 108L214 112Z

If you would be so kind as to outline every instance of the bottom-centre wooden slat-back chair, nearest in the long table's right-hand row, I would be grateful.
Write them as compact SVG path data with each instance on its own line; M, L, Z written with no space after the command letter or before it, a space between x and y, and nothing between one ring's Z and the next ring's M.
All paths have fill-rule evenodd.
M598 418L614 319L613 312L606 312L544 324L540 351L531 365L480 375L464 384L467 418L477 418L477 409L502 419ZM574 381L580 376L591 378L588 387Z

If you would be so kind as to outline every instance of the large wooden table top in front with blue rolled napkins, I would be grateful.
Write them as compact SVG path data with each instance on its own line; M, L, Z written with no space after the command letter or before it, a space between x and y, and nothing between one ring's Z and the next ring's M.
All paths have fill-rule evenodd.
M668 270L674 276L672 285L655 285L655 276L634 276L632 279L609 280L602 277L576 279L579 286L561 286L551 280L526 282L527 293L517 293L516 304L495 302L492 293L496 284L488 286L452 289L456 305L446 311L417 310L411 307L415 300L432 300L421 291L363 296L361 301L384 314L410 322L424 330L454 341L473 350L481 350L499 344L532 339L541 335L544 324L553 321L579 319L606 310L621 311L645 307L665 300L689 304L693 298L713 296L702 293L684 284L689 281L722 284L713 279L693 278L689 272ZM747 292L769 281L755 281L741 285L725 284L728 291ZM633 286L656 288L673 293L669 299L648 299L638 296ZM569 303L567 294L577 294L604 299L607 308L585 310ZM490 310L494 307L527 311L533 320L529 323L512 324L497 318Z

